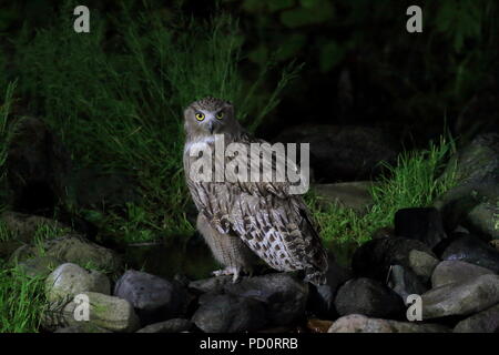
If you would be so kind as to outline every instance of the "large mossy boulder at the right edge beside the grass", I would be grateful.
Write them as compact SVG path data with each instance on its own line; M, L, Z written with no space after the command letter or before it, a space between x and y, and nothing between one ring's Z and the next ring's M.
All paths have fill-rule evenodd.
M488 240L498 237L498 231L490 229L490 216L499 212L499 134L478 135L460 149L439 179L452 174L456 185L434 204L442 214L446 230L464 224Z

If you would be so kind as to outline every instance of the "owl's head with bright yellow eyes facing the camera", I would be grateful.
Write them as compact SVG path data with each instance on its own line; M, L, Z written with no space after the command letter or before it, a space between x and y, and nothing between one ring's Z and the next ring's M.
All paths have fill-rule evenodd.
M212 97L191 103L184 110L184 119L185 132L191 138L200 139L213 134L240 131L240 124L234 118L232 103Z

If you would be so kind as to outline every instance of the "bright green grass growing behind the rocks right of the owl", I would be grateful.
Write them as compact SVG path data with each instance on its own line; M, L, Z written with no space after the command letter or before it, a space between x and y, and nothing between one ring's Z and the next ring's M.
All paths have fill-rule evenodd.
M394 215L399 209L431 205L435 199L456 184L452 173L439 178L454 151L454 141L441 138L425 151L401 153L395 166L385 164L388 174L370 189L374 203L364 215L333 203L320 203L312 191L306 201L324 241L361 244L370 240L378 229L393 226Z

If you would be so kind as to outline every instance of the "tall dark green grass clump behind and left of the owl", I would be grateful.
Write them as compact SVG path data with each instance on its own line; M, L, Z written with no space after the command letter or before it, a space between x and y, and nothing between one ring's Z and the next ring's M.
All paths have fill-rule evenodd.
M67 1L51 27L34 36L24 28L13 40L19 94L62 138L77 169L126 172L136 180L141 201L81 211L70 189L67 204L77 214L93 215L103 234L125 242L191 234L183 109L205 95L224 98L255 129L301 67L289 64L274 87L272 61L254 80L243 80L244 37L237 21L223 13L204 22L175 14L166 23L123 6L115 18L93 10L91 32L79 34L67 16L73 4ZM115 36L106 40L110 29Z

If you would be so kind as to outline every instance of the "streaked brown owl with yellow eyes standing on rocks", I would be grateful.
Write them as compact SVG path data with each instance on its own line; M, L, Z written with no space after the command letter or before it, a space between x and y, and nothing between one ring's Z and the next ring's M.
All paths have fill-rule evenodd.
M276 271L303 271L305 281L325 283L327 254L307 206L301 195L289 194L287 182L201 181L190 173L201 156L192 150L203 145L214 152L215 135L223 134L226 145L240 143L248 151L249 144L266 142L242 128L230 102L211 97L185 109L184 128L183 164L198 211L196 226L225 267L214 275L232 275L236 282L261 258Z

